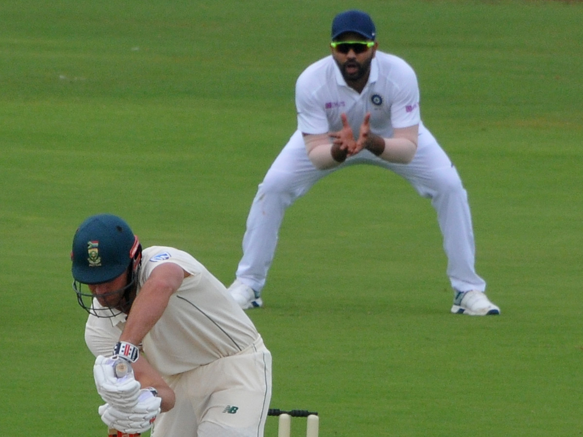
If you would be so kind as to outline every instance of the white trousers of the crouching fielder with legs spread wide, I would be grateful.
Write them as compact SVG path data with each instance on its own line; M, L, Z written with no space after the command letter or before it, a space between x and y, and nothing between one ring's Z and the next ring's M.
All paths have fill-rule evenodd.
M287 207L305 195L319 179L354 164L372 164L394 171L409 181L419 195L431 199L443 236L451 286L457 291L484 291L486 283L475 272L468 194L447 154L426 130L419 136L417 153L409 164L388 163L363 150L330 170L314 167L305 151L301 132L296 131L273 161L251 204L237 279L261 291Z

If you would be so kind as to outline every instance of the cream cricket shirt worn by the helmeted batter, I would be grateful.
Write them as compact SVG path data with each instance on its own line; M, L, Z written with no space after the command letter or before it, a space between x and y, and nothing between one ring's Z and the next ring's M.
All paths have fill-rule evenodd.
M230 297L224 285L186 252L165 246L144 249L138 273L139 289L154 267L175 263L190 276L170 297L156 325L143 339L143 353L161 375L174 375L237 354L258 339L251 319ZM99 302L94 299L99 308ZM115 318L90 315L85 341L94 355L111 355L125 326Z

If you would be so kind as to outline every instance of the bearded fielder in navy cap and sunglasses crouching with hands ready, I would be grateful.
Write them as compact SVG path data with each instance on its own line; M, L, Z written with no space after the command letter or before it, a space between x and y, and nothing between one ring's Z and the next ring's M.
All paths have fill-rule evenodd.
M358 10L334 18L330 45L331 55L297 79L298 129L259 184L231 295L244 309L261 306L286 208L326 175L371 164L395 172L431 199L454 290L451 312L499 314L475 271L467 193L421 121L415 72L403 59L377 50L373 20Z

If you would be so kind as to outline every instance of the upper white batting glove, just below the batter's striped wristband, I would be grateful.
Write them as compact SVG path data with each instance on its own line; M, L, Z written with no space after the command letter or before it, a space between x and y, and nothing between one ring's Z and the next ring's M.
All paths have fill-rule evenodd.
M110 406L122 411L131 411L138 403L141 385L129 372L123 378L117 378L114 372L116 360L99 355L93 365L93 378L97 393Z

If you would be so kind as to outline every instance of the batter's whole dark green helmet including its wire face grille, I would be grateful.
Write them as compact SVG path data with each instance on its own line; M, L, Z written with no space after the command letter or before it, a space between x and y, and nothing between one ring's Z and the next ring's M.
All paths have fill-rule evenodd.
M113 317L128 312L132 304L129 296L136 285L141 259L139 239L124 220L113 214L97 214L87 218L75 232L71 252L73 290L79 305L97 317ZM124 272L128 272L127 286L108 293L119 294L120 305L95 308L94 296L83 292L82 284L106 283Z

